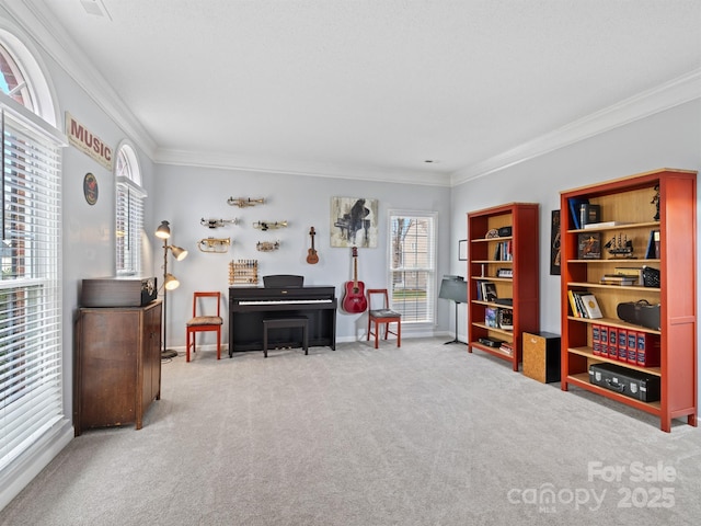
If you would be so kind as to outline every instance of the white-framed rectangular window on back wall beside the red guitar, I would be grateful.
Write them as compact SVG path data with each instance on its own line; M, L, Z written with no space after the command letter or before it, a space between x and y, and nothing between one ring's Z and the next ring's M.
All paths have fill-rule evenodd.
M425 248L414 247L421 253L425 252L426 259L416 258L414 262L406 259L399 261L395 258L397 240L395 240L395 218L421 218L428 221ZM436 323L436 232L437 232L438 215L433 211L402 210L393 209L388 213L388 290L390 294L390 306L392 310L402 313L402 324ZM414 233L416 236L416 233ZM417 237L417 241L421 237ZM420 241L422 242L422 241ZM415 283L405 283L398 279L401 273L425 273L425 281L416 279ZM416 301L412 301L407 296L407 290L425 288L426 296L422 309L416 308ZM420 293L421 294L421 293ZM423 313L422 313L423 312Z

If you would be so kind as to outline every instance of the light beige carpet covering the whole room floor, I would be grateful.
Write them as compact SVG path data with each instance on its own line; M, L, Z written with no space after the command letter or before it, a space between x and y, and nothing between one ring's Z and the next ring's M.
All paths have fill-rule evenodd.
M445 341L179 356L142 430L85 432L0 524L701 521L700 430Z

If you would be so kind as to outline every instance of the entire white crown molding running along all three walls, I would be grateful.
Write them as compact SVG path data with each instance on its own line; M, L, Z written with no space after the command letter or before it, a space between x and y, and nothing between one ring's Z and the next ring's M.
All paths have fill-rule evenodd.
M288 173L308 176L366 180L389 183L456 186L524 161L540 157L589 137L701 98L701 69L625 99L609 107L536 137L498 156L450 174L416 170L383 170L377 167L336 165L295 160L242 159L227 153L203 153L159 149L112 87L99 75L65 30L42 10L43 0L3 2L14 22L44 53L73 78L88 96L156 163L217 168L223 170Z

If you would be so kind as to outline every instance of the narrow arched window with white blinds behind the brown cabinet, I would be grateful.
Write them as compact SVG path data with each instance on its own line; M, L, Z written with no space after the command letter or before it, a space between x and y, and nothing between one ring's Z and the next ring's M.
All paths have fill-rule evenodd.
M128 144L123 144L117 148L115 180L117 184L115 192L117 275L140 275L146 192L141 187L139 160L136 151Z

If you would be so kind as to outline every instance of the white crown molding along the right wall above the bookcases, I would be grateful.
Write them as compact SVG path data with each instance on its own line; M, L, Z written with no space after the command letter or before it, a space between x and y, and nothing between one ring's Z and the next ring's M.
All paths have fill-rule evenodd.
M696 69L524 142L504 153L458 170L450 175L450 185L457 186L489 175L699 98L701 98L701 69Z

